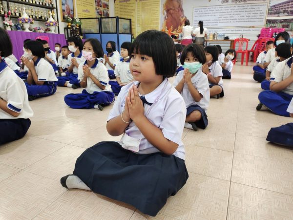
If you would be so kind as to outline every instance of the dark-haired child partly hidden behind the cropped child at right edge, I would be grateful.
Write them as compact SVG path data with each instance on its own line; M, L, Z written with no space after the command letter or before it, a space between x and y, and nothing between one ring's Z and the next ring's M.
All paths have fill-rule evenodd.
M261 82L261 88L264 90L270 90L270 78L271 73L274 70L274 68L279 64L279 62L282 62L284 60L287 60L289 57L292 56L292 47L291 44L288 43L282 43L278 44L275 48L276 56L272 62L269 64L268 69L266 71L266 79Z

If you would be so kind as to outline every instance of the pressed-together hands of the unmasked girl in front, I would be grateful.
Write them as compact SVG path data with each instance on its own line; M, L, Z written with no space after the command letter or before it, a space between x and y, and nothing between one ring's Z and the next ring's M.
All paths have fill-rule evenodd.
M129 115L132 121L135 122L136 119L144 116L144 104L139 97L138 89L136 86L133 86L130 89L130 94L128 92L127 96L127 105L129 110Z

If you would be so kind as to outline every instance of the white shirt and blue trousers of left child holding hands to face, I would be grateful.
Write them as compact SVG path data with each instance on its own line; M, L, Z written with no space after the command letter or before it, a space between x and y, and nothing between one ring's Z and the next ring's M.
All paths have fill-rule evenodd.
M34 63L38 81L44 82L43 85L29 85L25 83L27 94L35 98L53 95L57 90L58 79L55 76L53 67L43 58L38 58Z

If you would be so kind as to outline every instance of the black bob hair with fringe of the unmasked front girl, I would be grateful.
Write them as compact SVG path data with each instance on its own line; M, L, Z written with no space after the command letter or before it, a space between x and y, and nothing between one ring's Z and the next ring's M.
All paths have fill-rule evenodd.
M132 53L152 57L157 75L174 76L177 66L176 50L172 38L167 33L157 30L141 33L131 46L130 54ZM162 62L162 58L165 62Z

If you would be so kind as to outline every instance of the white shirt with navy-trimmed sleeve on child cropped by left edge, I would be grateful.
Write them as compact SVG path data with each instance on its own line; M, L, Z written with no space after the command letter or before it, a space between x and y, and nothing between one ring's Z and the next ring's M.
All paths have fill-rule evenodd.
M7 108L20 112L17 117L0 109L0 119L17 119L32 117L25 84L15 72L5 63L0 62L0 98L7 102Z

